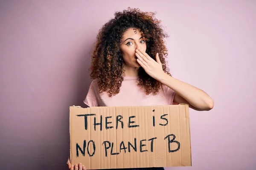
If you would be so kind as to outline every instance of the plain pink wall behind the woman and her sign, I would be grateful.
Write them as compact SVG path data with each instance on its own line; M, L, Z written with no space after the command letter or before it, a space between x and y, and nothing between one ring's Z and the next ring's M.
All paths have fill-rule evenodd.
M192 167L256 169L256 2L6 0L0 2L0 169L62 170L69 106L91 80L90 49L116 10L157 11L174 77L215 100L190 110Z

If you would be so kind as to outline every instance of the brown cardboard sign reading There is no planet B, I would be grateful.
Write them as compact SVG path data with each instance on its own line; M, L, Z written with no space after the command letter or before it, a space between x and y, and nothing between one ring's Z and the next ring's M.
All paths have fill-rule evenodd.
M88 170L191 166L189 106L71 106L70 160Z

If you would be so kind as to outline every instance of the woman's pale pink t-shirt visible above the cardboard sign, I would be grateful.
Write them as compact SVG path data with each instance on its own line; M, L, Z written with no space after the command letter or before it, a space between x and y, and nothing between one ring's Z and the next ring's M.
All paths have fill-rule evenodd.
M163 86L157 95L146 95L137 85L138 77L125 77L122 81L119 94L109 97L107 92L99 94L96 79L90 85L84 103L93 106L149 106L149 105L172 105L175 91Z

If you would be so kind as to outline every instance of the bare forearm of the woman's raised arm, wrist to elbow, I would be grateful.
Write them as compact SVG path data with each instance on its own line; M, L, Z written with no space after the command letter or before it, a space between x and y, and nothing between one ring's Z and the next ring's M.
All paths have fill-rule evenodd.
M201 89L175 79L168 74L163 74L159 81L174 90L198 110L210 110L213 108L214 102L212 98Z

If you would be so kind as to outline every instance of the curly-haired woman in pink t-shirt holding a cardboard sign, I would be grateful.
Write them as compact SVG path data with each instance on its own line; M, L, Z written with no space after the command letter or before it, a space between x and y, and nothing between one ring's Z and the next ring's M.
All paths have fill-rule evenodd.
M97 36L90 67L93 82L84 103L89 107L186 103L197 111L211 110L211 97L168 72L165 37L154 13L131 8L116 12ZM83 167L71 167L69 159L67 164L72 170Z

